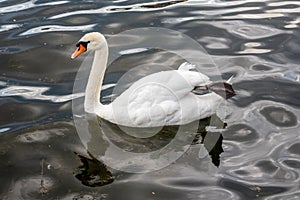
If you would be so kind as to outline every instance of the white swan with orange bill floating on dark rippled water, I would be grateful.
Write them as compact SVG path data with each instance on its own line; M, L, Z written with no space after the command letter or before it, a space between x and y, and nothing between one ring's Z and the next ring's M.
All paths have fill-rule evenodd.
M112 103L103 105L100 92L108 60L106 39L99 32L87 33L76 47L72 59L86 51L94 51L85 89L85 112L118 125L160 127L188 124L213 115L224 99L234 95L229 82L214 84L208 76L193 71L195 66L183 63L178 70L161 71L139 79Z

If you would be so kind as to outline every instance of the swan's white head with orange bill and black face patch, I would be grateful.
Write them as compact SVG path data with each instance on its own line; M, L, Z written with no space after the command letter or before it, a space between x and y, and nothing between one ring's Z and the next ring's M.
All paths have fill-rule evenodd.
M105 46L107 46L106 40L101 33L87 33L77 42L77 49L72 54L71 58L74 59L86 51L99 50Z

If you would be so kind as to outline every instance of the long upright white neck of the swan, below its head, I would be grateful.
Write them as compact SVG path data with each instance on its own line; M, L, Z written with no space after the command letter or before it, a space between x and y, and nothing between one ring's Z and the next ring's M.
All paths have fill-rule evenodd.
M101 49L95 51L94 61L85 90L84 108L86 112L108 117L107 106L100 102L100 94L108 59L108 46L103 42Z

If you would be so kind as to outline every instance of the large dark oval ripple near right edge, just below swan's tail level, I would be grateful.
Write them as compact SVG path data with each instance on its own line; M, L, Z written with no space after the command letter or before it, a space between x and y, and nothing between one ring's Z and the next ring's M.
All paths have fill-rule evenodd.
M298 123L296 115L282 107L264 107L260 113L266 120L278 127L291 127Z

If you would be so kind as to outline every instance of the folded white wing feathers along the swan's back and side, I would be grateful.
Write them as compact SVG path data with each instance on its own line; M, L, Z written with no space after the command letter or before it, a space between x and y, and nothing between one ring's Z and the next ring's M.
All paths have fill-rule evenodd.
M191 91L209 82L206 75L194 71L162 71L143 77L113 101L116 123L147 127L189 123L202 118L201 113L207 117L214 112L213 102Z

